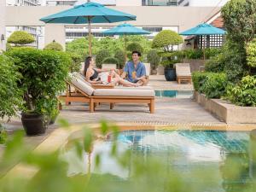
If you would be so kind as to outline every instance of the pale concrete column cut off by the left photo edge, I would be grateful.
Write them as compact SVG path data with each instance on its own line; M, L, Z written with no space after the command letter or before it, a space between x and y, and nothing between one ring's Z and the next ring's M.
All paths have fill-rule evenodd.
M5 0L0 0L0 52L6 49L6 36L5 36Z

